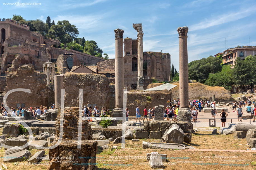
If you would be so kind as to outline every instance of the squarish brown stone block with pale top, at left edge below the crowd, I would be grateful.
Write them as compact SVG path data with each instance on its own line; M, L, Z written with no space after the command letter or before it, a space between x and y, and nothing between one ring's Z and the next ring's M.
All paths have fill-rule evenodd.
M18 137L20 135L20 124L16 122L7 122L4 124L3 135L8 137Z

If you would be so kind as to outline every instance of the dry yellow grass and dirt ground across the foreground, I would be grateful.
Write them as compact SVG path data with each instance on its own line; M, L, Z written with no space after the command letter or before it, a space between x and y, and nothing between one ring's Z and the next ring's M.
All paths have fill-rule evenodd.
M201 130L210 129L209 127L201 128ZM219 129L219 128L218 128ZM0 133L3 128L0 129ZM200 130L200 129L198 129ZM234 139L233 134L230 135L211 135L210 131L198 131L192 135L190 144L183 143L186 146L193 146L196 149L234 149L247 150L250 149L246 139ZM159 152L166 154L167 161L161 169L167 170L184 170L184 169L256 169L256 153L255 152L216 152L216 151L187 151L187 150L164 150L164 149L142 149L142 141L155 142L155 139L140 139L138 142L125 140L125 149L121 149L121 144L113 144L110 142L109 149L98 149L97 166L100 170L111 169L130 169L130 170L151 170L146 159L147 153ZM112 146L118 149L110 151ZM30 150L32 154L37 150ZM46 154L48 151L46 150ZM0 164L3 164L4 149L0 150ZM26 161L21 161L20 165L15 163L4 163L7 169L20 170L39 170L48 169L49 161L40 161L42 164L28 165ZM3 168L4 169L4 168Z

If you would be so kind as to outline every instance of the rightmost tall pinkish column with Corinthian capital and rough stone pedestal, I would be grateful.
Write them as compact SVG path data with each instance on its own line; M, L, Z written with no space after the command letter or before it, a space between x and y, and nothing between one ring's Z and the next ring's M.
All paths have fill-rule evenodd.
M180 70L180 109L179 121L191 122L191 112L188 104L188 27L179 27L179 70Z

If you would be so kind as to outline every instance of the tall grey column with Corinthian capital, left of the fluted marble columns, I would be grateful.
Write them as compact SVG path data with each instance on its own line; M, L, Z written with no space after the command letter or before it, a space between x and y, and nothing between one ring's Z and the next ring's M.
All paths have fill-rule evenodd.
M124 95L124 53L122 29L115 29L116 55L115 55L115 84L116 84L116 108L113 117L123 116L123 95Z

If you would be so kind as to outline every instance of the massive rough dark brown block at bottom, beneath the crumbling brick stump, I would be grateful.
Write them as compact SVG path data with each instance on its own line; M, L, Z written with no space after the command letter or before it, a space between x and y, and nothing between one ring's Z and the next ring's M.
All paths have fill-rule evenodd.
M52 143L52 145L53 144L55 143ZM82 140L81 149L77 148L77 141L70 140L62 141L56 148L49 149L49 157L51 158L49 163L51 164L48 170L92 170L96 165L97 142ZM78 161L83 164L74 164L73 161Z

